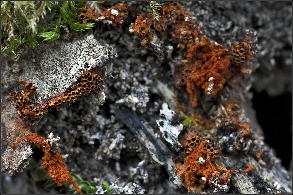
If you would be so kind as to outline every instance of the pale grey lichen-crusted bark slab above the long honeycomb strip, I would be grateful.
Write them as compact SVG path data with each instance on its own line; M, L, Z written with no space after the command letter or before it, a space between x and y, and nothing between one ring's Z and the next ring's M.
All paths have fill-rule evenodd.
M35 51L28 49L17 61L23 68L19 78L38 87L36 100L43 103L72 87L84 71L105 66L109 53L92 32L69 40L43 42Z

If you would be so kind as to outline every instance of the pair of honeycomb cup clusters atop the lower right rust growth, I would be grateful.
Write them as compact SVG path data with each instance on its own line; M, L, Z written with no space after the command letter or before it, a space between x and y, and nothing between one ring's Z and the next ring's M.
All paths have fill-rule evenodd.
M201 138L198 134L196 135L188 135L185 145L186 154L190 155L192 154L193 150L198 148L200 143L203 143L204 141L201 141ZM217 148L212 148L210 142L206 141L203 144L203 158L204 159L210 159L211 161L214 161L219 157L220 151Z

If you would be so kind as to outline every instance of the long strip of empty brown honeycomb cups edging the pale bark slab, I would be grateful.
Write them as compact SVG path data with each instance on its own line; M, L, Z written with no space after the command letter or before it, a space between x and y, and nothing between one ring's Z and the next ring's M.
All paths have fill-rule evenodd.
M18 79L19 83L23 84L23 88L20 91L10 92L10 96L15 96L15 111L17 111L20 118L26 120L28 124L33 125L38 123L43 114L48 111L49 107L59 106L63 102L68 102L69 105L71 105L75 102L77 97L96 89L100 90L100 85L103 80L97 75L98 70L97 68L83 72L80 76L81 81L75 87L62 95L54 96L42 104L32 102L30 99L30 96L33 95L37 87L33 86L32 83L27 83L25 80Z

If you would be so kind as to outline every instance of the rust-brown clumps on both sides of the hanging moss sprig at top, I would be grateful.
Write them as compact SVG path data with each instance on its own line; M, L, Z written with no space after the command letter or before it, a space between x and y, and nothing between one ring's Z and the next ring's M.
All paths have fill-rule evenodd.
M200 29L197 28L191 15L187 14L178 2L166 2L158 12L162 17L155 24L154 30L156 32L171 34L172 39L178 44L177 47L181 49L189 49L196 44L196 37ZM136 36L146 38L142 44L152 40L152 14L152 12L142 13L132 26Z

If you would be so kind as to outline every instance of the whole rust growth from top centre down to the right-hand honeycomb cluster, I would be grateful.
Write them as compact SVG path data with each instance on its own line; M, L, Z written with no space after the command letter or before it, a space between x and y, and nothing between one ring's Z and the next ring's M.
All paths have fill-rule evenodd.
M239 65L252 59L251 50L257 46L255 34L249 34L248 38L240 44L235 44L231 49L221 49L219 44L209 42L209 38L200 35L200 29L196 22L187 14L178 2L166 2L158 13L154 27L152 12L142 13L131 26L131 30L138 37L144 38L142 45L152 46L153 33L171 35L180 49L187 49L187 63L178 63L175 66L175 74L181 86L186 86L190 94L192 107L197 104L197 97L202 89L209 95L216 94L226 82L226 79L237 73L251 73L249 66L241 66L237 70L233 65ZM153 49L156 51L156 49ZM156 55L163 59L162 51ZM238 68L239 69L239 68Z

